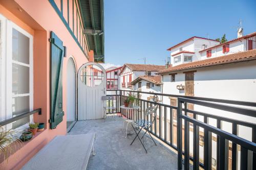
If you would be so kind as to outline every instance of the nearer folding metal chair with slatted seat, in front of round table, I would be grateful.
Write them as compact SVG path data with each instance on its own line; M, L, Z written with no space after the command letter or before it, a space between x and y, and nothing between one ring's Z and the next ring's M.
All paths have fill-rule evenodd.
M145 115L144 115L144 118L145 118L147 115L155 114L155 116L154 116L154 118L153 118L153 121L151 120L152 122L151 122L151 121L147 121L146 119L139 119L139 120L137 120L136 122L132 123L132 127L133 127L133 129L134 129L134 131L135 131L135 133L136 133L136 136L135 136L135 138L133 139L131 145L133 144L133 142L135 141L135 139L138 137L139 140L140 140L140 142L141 142L141 144L142 144L142 146L143 146L143 148L144 148L144 150L146 151L146 149L145 149L145 147L144 147L144 142L141 141L141 139L145 136L146 133L148 133L148 134L150 135L150 137L151 137L151 139L154 141L155 145L157 145L156 142L155 142L155 140L154 140L153 137L151 136L150 132L148 132L148 130L151 128L151 126L154 124L154 122L155 122L155 120L156 120L157 108L158 108L158 105L146 108L146 113L145 113ZM136 129L138 129L138 133L137 133ZM143 131L142 131L142 130L146 130L146 131L144 132L144 134L143 134ZM141 139L140 139L139 133L140 133L141 131L142 131L142 134L143 134L143 135L142 135L142 137L141 137ZM147 151L146 151L146 153L147 153Z

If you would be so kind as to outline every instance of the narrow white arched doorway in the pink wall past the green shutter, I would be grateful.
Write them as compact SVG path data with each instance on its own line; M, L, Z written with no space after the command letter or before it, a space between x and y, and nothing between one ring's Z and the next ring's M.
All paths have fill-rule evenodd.
M67 131L76 120L76 68L73 58L69 58L67 65Z

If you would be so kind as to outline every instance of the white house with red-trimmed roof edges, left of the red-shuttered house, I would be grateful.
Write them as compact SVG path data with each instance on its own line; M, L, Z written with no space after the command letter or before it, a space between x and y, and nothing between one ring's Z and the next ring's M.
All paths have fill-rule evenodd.
M173 66L176 66L187 62L201 60L199 51L217 44L220 44L220 42L213 39L196 36L188 38L167 49L170 51L170 63L172 63Z

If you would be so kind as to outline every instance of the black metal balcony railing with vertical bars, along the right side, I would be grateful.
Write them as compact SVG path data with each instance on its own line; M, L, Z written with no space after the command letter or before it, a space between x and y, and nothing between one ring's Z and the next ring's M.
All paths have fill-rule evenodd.
M182 159L184 160L184 168L187 169L189 166L189 160L193 162L194 169L199 169L201 166L204 169L211 169L212 167L212 140L215 138L217 142L216 152L216 169L227 168L228 165L232 169L238 168L238 162L240 161L241 168L252 167L256 165L256 124L245 122L234 117L219 116L216 114L205 113L194 110L192 105L200 105L208 108L214 108L224 110L232 113L239 113L244 116L256 116L256 110L241 108L253 107L256 108L256 103L243 102L243 101L232 101L222 99L211 99L201 98L195 96L184 96L184 95L173 95L173 94L162 94L142 91L129 91L129 90L107 90L109 93L116 96L116 100L113 102L116 106L116 110L110 110L111 113L121 113L127 118L137 120L145 118L152 120L150 117L144 117L145 109L150 106L158 105L157 118L150 129L151 134L160 139L169 147L178 151L178 167L182 169ZM140 109L135 111L121 110L120 106L123 104L123 100L127 97L127 94L137 94L137 105ZM169 104L163 104L160 102L148 101L140 99L140 95L158 95L160 98L172 98L177 102L171 102ZM171 99L170 99L171 100ZM225 104L225 105L223 105ZM228 104L228 105L227 105ZM238 105L240 107L238 107ZM182 114L183 113L183 114ZM203 122L197 117L203 117ZM216 119L216 127L208 124L208 119ZM221 127L222 122L228 122L232 125L232 134L224 131ZM182 126L180 126L182 125ZM248 141L238 136L238 127L244 126L251 128L252 140ZM178 127L178 129L177 129ZM189 152L189 131L193 133L193 154ZM178 135L179 134L179 135ZM182 135L183 134L183 135ZM200 135L200 136L199 136ZM215 136L214 136L215 135ZM184 136L184 137L183 137ZM199 137L204 138L204 141L199 141ZM228 141L232 141L231 147L229 147ZM200 143L201 142L201 143ZM203 149L203 159L199 157L199 143L201 149ZM229 148L231 148L231 163L228 161ZM238 150L241 148L241 157L238 160ZM249 151L248 151L249 150ZM181 154L182 153L182 154ZM246 156L246 153L248 155ZM183 155L183 156L182 156ZM202 156L202 155L201 155ZM243 156L243 158L242 158ZM195 159L194 159L195 158ZM251 161L250 161L251 160ZM244 165L247 161L247 165ZM243 166L242 166L243 165Z

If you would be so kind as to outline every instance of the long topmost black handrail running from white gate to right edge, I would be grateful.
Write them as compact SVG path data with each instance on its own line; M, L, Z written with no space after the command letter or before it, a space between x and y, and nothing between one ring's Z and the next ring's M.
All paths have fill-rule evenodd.
M109 91L113 91L113 90L109 90ZM225 104L256 107L256 102L244 102L244 101L234 101L234 100L216 99L216 98L202 98L202 97L197 97L197 96L186 96L186 95L165 94L165 93L153 93L153 92L134 91L134 90L120 90L120 89L118 89L118 91L136 92L136 93L139 92L139 93L144 93L144 94L163 95L163 96L174 97L174 98L187 98L187 99L194 99L194 100L200 100L200 101L209 101L209 102L217 102L217 103L225 103Z

